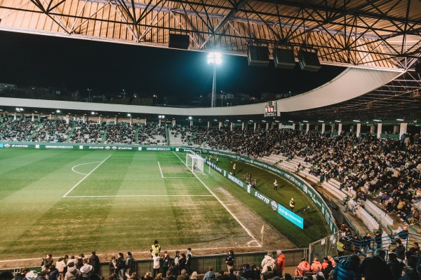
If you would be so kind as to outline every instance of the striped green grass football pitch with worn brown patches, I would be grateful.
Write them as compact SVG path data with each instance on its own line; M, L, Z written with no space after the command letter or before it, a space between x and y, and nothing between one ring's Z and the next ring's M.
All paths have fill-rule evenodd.
M147 251L154 239L168 250L251 244L259 251L260 237L253 230L250 235L243 221L240 225L245 217L229 204L227 193L297 246L327 232L315 211L308 227L299 230L220 174L195 176L184 153L1 149L0 162L0 226L6 233L0 260ZM221 165L229 169L230 162L222 159ZM247 169L260 178L258 188L269 193L273 174L238 165L239 172ZM270 195L296 197L296 209L309 204L288 183L282 188Z

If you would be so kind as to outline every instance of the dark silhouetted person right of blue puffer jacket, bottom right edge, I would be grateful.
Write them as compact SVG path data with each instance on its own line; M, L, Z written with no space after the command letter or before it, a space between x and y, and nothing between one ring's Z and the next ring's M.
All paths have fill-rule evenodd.
M361 272L366 280L392 280L392 272L385 262L385 256L386 251L377 248L373 257L364 258L361 263Z

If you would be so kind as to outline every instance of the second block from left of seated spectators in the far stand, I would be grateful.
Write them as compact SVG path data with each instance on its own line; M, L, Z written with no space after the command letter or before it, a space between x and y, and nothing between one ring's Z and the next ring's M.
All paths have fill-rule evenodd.
M32 134L30 141L36 142L64 142L67 140L72 124L66 120L47 120L41 122L41 126Z

